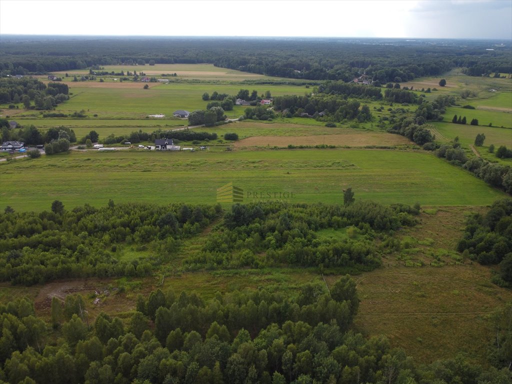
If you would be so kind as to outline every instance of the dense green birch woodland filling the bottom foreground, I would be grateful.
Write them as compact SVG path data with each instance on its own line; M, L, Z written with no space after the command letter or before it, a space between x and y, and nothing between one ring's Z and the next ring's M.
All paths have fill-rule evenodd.
M12 384L506 384L510 335L483 368L462 355L420 366L385 336L350 328L359 298L343 276L296 295L234 292L206 301L157 289L139 296L123 322L89 323L80 295L52 300L50 328L26 299L0 306L0 382ZM496 312L496 323L508 321Z

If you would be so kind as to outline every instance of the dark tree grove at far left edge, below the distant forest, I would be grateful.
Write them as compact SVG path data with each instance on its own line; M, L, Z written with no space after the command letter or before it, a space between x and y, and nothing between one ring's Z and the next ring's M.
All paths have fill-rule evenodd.
M67 84L49 82L47 86L33 78L0 78L0 104L23 103L27 109L51 110L68 99Z

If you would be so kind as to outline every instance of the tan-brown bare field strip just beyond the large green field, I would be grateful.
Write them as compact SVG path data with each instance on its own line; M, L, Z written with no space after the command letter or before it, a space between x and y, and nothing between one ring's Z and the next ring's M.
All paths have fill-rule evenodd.
M341 135L312 135L312 136L254 136L237 141L234 147L248 146L287 146L293 145L399 145L411 144L411 142L399 135L377 132L358 132Z

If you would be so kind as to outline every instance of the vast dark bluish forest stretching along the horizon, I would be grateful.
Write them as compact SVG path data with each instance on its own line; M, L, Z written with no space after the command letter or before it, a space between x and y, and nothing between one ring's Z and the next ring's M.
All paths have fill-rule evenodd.
M510 41L255 37L3 35L0 76L104 65L212 63L307 80L405 82L464 68L471 76L512 73Z

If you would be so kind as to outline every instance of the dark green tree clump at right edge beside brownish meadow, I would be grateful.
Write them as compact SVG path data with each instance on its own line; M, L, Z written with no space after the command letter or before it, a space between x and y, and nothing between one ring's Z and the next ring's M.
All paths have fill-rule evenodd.
M512 286L512 200L498 200L485 215L470 216L457 250L480 264L499 264L495 281Z

